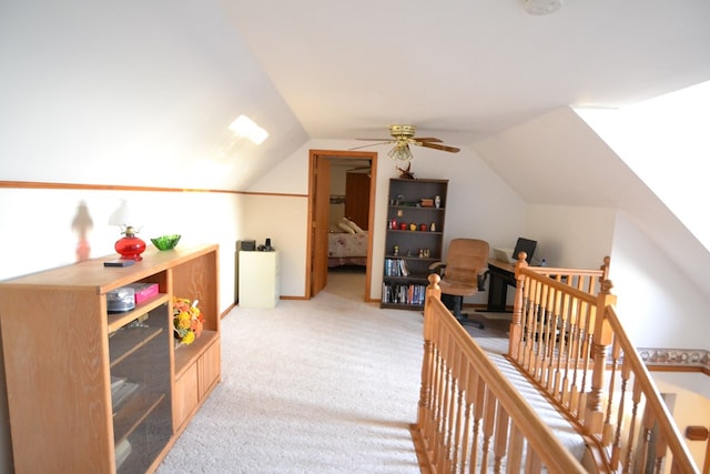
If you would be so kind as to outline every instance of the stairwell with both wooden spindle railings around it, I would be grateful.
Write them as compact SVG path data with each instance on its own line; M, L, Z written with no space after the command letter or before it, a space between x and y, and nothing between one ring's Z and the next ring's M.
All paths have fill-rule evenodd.
M487 351L429 276L422 471L699 473L613 310L600 270L516 264L507 354Z

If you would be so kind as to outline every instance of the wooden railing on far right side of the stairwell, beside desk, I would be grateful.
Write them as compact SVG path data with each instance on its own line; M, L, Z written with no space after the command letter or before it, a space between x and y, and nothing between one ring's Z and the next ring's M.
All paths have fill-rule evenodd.
M600 270L516 264L508 359L596 445L599 470L699 473Z

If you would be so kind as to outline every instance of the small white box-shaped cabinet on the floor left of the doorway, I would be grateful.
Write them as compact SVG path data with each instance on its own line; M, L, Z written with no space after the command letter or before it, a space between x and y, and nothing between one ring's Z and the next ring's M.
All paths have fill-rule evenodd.
M278 251L240 251L240 307L274 307L278 302Z

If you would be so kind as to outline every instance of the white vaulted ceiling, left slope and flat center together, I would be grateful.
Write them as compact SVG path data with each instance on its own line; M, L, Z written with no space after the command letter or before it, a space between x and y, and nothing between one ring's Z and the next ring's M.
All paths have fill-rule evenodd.
M710 79L706 0L565 0L550 16L523 6L3 2L0 175L240 190L308 140L413 123L475 149L559 108ZM242 113L270 131L261 147L229 132ZM119 162L141 172L116 173Z

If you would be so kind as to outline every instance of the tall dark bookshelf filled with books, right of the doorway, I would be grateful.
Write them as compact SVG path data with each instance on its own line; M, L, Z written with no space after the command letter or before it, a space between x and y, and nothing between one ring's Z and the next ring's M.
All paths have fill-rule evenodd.
M389 180L382 307L424 307L428 268L442 260L447 186L448 180Z

